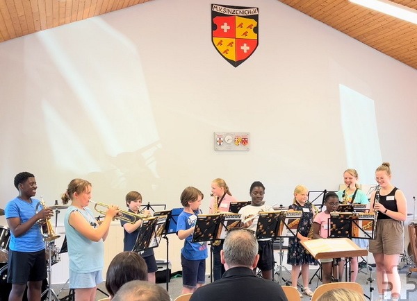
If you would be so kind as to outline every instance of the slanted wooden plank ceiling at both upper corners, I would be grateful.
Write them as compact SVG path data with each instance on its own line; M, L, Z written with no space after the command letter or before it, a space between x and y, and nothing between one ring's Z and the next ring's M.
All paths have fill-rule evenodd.
M0 0L0 42L148 1L152 0ZM278 1L417 69L416 24L348 0ZM416 0L393 2L417 10Z

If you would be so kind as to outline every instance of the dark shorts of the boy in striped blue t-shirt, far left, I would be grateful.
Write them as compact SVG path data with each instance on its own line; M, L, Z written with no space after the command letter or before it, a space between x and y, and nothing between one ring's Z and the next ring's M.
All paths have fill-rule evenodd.
M45 250L38 252L17 252L9 250L7 282L26 284L28 281L47 279Z

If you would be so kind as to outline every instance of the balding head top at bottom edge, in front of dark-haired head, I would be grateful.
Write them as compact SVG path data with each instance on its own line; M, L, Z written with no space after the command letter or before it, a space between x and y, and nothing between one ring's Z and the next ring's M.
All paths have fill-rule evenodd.
M123 284L112 301L171 301L171 298L158 284L134 280Z

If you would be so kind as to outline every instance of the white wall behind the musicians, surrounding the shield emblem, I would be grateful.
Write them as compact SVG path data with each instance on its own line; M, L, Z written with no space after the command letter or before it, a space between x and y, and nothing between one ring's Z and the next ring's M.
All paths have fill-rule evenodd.
M224 0L259 7L258 49L235 68L211 43L211 3L156 0L1 43L0 207L20 171L51 205L86 178L96 201L138 190L168 209L192 185L206 211L213 178L240 200L261 180L287 205L350 167L371 184L383 160L412 212L417 71L279 1ZM215 152L215 131L250 132L250 151Z

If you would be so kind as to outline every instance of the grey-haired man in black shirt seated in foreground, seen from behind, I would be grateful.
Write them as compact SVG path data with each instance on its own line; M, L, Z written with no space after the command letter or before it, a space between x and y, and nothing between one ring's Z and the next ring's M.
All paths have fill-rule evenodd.
M190 301L287 300L279 284L258 278L254 273L259 254L253 231L238 228L229 231L220 259L226 269L222 279L197 289Z

